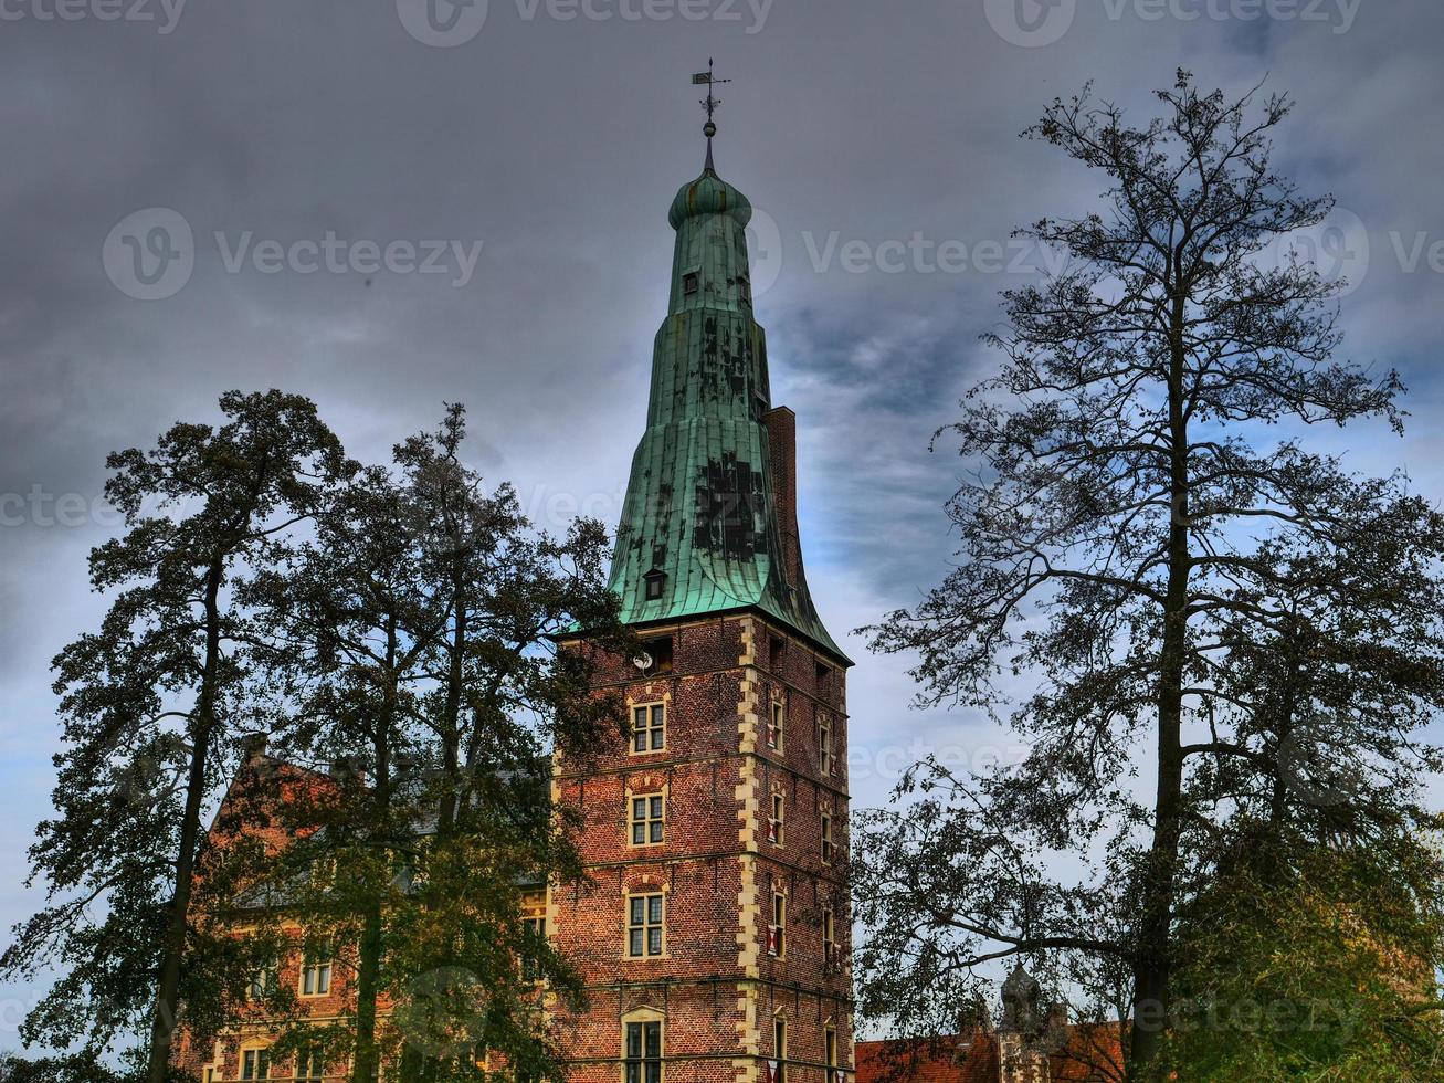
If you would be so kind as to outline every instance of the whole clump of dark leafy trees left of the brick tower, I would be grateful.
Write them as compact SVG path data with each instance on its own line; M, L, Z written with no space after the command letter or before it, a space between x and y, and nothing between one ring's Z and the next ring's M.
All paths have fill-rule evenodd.
M118 1058L159 1083L178 1024L208 1048L264 1018L277 1070L319 1050L361 1083L377 1056L445 1083L490 1048L544 1074L531 975L580 991L520 904L580 875L550 751L585 758L624 718L591 695L592 656L557 647L576 628L632 647L605 531L553 537L488 491L461 407L365 469L305 399L221 409L110 458L127 533L92 554L101 630L55 663L66 748L30 852L49 905L3 959L62 972L22 1037L79 1053L6 1070L110 1083ZM253 988L303 956L331 960L339 1018Z

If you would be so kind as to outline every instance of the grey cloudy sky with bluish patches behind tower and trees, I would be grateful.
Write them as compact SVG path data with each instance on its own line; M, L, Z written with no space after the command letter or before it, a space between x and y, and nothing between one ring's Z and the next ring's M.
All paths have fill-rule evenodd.
M276 386L381 458L459 400L539 521L615 523L709 55L835 632L946 566L928 436L995 364L978 335L1032 263L1009 230L1100 188L1018 139L1087 79L1138 110L1180 65L1297 97L1279 163L1339 198L1349 351L1412 387L1405 439L1340 446L1444 495L1441 40L1437 0L0 0L0 924L39 902L48 663L100 612L108 451ZM1006 748L848 647L861 803L931 748ZM29 993L0 1004L9 1044Z

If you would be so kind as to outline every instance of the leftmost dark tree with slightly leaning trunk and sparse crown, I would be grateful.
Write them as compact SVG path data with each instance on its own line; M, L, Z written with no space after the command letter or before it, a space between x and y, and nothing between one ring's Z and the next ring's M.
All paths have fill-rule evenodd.
M0 960L9 975L66 970L27 1015L27 1044L81 1040L94 1060L143 1032L147 1083L166 1076L195 973L202 810L253 722L254 625L231 586L348 469L306 399L230 391L219 406L218 429L178 423L155 449L107 461L105 495L127 533L91 553L91 582L114 601L53 663L66 747L56 817L30 848L48 907Z

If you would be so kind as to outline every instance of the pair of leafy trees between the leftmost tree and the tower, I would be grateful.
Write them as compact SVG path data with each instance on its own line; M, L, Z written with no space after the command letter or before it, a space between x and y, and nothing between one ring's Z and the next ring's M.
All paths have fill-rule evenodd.
M280 754L326 778L279 812L292 842L248 895L283 911L296 949L338 946L352 978L331 1027L273 998L273 1053L348 1054L354 1083L381 1060L401 1080L478 1079L478 1048L540 1076L554 1047L536 979L578 992L526 924L521 884L579 875L547 747L582 748L622 712L553 637L579 624L628 640L601 526L536 531L508 487L487 491L462 465L464 438L449 407L438 433L396 449L396 469L338 490L315 537L245 592L289 702Z

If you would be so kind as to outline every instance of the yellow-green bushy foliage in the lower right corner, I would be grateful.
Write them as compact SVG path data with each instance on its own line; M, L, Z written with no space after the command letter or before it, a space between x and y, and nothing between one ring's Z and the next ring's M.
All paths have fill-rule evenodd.
M1438 851L1414 835L1327 845L1239 827L1180 914L1164 1063L1239 1083L1440 1079Z

